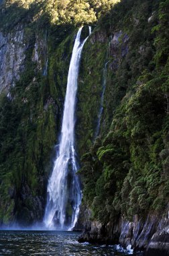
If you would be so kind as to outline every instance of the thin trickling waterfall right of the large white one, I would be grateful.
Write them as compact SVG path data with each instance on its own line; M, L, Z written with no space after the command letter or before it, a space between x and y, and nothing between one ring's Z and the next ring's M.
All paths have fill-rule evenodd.
M100 130L100 126L101 126L101 116L102 116L102 113L103 113L103 102L104 102L106 80L107 80L107 64L109 62L110 61L107 61L107 63L105 63L105 67L103 69L103 90L102 90L102 94L101 94L101 107L100 107L100 110L99 110L97 129L96 129L96 132L95 132L95 137L97 137L99 135L99 130Z

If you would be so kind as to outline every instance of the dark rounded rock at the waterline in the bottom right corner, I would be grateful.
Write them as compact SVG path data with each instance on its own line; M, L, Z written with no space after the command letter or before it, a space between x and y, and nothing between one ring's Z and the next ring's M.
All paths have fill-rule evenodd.
M159 255L169 255L169 226L156 232L148 245L146 256Z

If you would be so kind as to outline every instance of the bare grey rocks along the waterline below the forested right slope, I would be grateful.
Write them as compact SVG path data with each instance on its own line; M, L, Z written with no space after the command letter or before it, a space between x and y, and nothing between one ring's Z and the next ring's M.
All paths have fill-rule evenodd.
M132 222L119 217L108 224L90 222L89 219L87 216L84 222L84 230L78 238L80 243L118 243L124 248L131 245L133 251L144 251L146 256L169 255L168 213L164 216L148 214L147 218L135 215Z

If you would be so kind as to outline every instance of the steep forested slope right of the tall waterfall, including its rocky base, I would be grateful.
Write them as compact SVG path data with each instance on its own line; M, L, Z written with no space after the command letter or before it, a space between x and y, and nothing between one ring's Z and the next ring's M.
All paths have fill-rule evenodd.
M84 138L80 174L89 210L81 217L86 232L80 241L116 243L120 237L123 245L145 249L152 234L168 225L168 7L168 1L121 1L86 46L85 89L79 90L84 103L78 104L84 118L77 127ZM104 62L97 60L100 54ZM95 73L104 75L105 63L101 133L95 139L100 105L87 92L101 95L103 78Z

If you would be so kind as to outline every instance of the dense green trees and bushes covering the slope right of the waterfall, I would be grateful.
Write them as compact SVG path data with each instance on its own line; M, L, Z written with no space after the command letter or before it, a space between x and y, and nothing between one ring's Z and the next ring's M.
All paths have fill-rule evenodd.
M88 153L79 172L83 203L102 223L119 214L130 219L150 211L163 213L168 205L168 13L168 1L121 1L99 21L107 38L113 31L121 34L117 44L111 41L107 47L101 134L91 147L83 131L89 127L93 134L90 125L97 115L89 108L93 96L85 101L81 116L87 113L89 123L79 137L84 138L82 152Z

